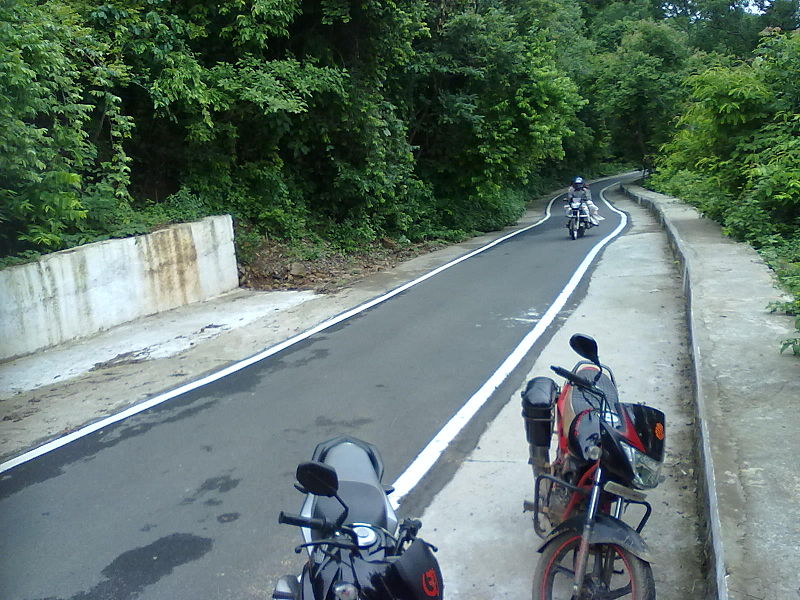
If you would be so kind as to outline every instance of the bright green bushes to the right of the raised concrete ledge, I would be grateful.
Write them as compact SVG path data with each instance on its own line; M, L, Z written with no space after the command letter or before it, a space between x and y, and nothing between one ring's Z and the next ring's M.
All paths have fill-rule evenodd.
M688 79L690 102L664 146L657 189L685 198L750 242L794 294L800 315L800 32L765 32L748 62ZM798 319L800 329L800 319ZM788 340L800 353L800 339Z

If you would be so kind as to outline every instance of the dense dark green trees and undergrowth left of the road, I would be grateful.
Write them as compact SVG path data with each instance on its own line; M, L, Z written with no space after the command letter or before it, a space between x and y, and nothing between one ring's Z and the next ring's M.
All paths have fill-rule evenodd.
M344 248L496 228L584 102L511 2L2 1L3 254L214 212Z

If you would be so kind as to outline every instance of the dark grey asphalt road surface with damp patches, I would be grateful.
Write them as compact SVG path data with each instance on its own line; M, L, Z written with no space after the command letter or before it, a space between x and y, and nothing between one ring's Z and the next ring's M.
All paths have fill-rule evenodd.
M557 214L282 353L4 474L0 598L267 597L299 560L289 554L297 532L276 523L300 501L295 465L347 432L379 445L393 481L617 226L604 214L574 242ZM430 501L529 366L404 509Z

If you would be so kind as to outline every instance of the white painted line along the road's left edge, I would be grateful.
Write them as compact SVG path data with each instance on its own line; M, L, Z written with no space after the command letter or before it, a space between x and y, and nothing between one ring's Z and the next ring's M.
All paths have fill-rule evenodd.
M420 284L423 281L425 281L427 279L430 279L431 277L433 277L435 275L438 275L442 271L445 271L445 270L449 269L450 267L453 267L453 266L455 266L455 265L457 265L457 264L459 264L461 262L464 262L465 260L467 260L469 258L472 258L473 256L475 256L477 254L480 254L481 252L485 252L486 250L489 250L490 248L493 248L494 246L497 246L498 244L506 241L507 239L510 239L510 238L512 238L512 237L514 237L516 235L521 234L521 233L524 233L524 232L528 231L529 229L533 229L534 227L538 227L539 225L541 225L542 223L544 223L545 221L547 221L550 218L550 207L552 206L553 201L556 198L560 197L560 196L562 196L562 194L558 194L557 196L551 198L550 202L547 205L547 209L545 210L545 216L542 217L541 219L539 219L538 221L536 221L535 223L531 224L531 225L527 225L527 226L525 226L525 227L523 227L521 229L517 229L515 231L512 231L511 233L508 233L508 234L504 235L503 237L500 237L500 238L498 238L498 239L486 244L485 246L481 246L480 248L477 248L476 250L473 250L472 252L468 252L467 254L465 254L463 256L460 256L459 258L457 258L455 260L452 260L449 263L444 264L441 267L438 267L438 268L434 269L433 271L430 271L430 272L426 273L425 275L422 275L421 277L418 277L417 279L414 279L413 281L405 283L405 284L401 285L400 287L397 287L397 288L391 290L390 292L387 292L383 296L379 296L377 298L373 298L372 300L370 300L368 302L365 302L364 304L361 304L359 306L356 306L355 308L352 308L352 309L350 309L348 311L345 311L345 312L343 312L343 313L341 313L341 314L339 314L339 315L337 315L337 316L335 316L335 317L333 317L331 319L328 319L327 321L323 321L319 325L317 325L315 327L312 327L311 329L308 329L308 330L306 330L306 331L304 331L304 332L302 332L302 333L300 333L300 334L298 334L298 335L296 335L296 336L294 336L292 338L289 338L288 340L285 340L285 341L281 342L280 344L276 344L275 346L267 348L266 350L264 350L262 352L259 352L258 354L255 354L255 355L251 356L250 358L246 358L246 359L244 359L242 361L239 361L237 363L234 363L232 365L228 365L224 369L222 369L220 371L216 371L214 373L211 373L210 375L207 375L206 377L203 377L201 379L197 379L195 381L192 381L192 382L189 382L189 383L187 383L185 385L179 386L179 387L177 387L177 388L175 388L173 390L170 390L168 392L165 392L163 394L159 394L157 396L154 396L153 398L150 398L149 400L145 400L144 402L140 402L139 404L137 404L135 406L131 406L130 408L128 408L128 409L126 409L126 410L124 410L122 412L116 413L114 415L111 415L110 417L106 417L106 418L101 419L101 420L99 420L99 421L97 421L95 423L91 423L89 425L81 427L80 429L76 429L72 433L69 433L69 434L67 434L65 436L59 437L59 438L57 438L55 440L52 440L52 441L47 442L45 444L42 444L41 446L38 446L37 448L34 448L33 450L30 450L28 452L25 452L24 454L21 454L21 455L15 457L15 458L12 458L11 460L8 460L8 461L6 461L4 463L0 463L0 473L4 473L6 471L9 471L9 470L13 469L16 466L19 466L19 465L21 465L23 463L26 463L26 462L29 462L29 461L34 460L36 458L39 458L40 456L42 456L44 454L47 454L48 452L52 452L53 450L57 450L58 448L61 448L62 446L66 446L70 442L74 442L75 440L77 440L79 438L85 437L85 436L87 436L87 435L89 435L91 433L94 433L95 431L97 431L99 429L103 429L104 427L108 427L109 425L113 425L114 423L118 423L119 421L127 419L128 417L136 415L136 414L138 414L140 412L144 412L145 410L148 410L148 409L150 409L150 408L152 408L154 406L157 406L157 405L159 405L159 404L161 404L163 402L166 402L167 400L171 400L172 398L175 398L175 397L180 396L182 394L186 394L187 392L191 392L192 390L200 388L200 387L202 387L204 385L208 385L209 383L213 383L214 381L217 381L218 379L222 379L223 377L227 377L228 375L230 375L232 373L236 373L237 371L241 371L242 369L244 369L246 367L249 367L250 365L255 364L255 363L257 363L257 362L259 362L261 360L264 360L265 358L268 358L268 357L272 356L273 354L276 354L276 353L280 352L281 350L285 350L289 346L293 346L294 344L297 344L298 342L302 342L303 340L308 339L309 337L311 337L314 334L319 333L320 331L328 329L329 327L333 327L334 325L336 325L338 323L341 323L342 321L345 321L345 320L347 320L347 319L349 319L349 318L351 318L351 317L353 317L353 316L355 316L355 315L357 315L357 314L359 314L361 312L364 312L365 310L368 310L368 309L372 308L373 306L376 306L376 305L378 305L378 304L380 304L382 302L385 302L389 298L393 298L394 296L397 296L398 294L403 293L404 291L408 290L409 288L412 288L415 285ZM462 425L462 427L463 427L463 425Z

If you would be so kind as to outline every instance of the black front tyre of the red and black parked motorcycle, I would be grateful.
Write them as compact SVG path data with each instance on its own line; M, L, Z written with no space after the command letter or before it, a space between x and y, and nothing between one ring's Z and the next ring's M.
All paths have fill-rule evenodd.
M539 557L539 562L533 573L532 600L562 600L562 598L564 600L569 600L572 597L571 584L569 585L569 592L566 596L554 597L552 582L548 584L547 580L550 577L553 565L558 562L557 555L563 554L564 551L571 552L572 550L577 550L577 544L580 542L580 538L580 534L575 531L565 531L547 544ZM631 578L631 588L634 593L624 597L630 598L631 600L655 600L656 584L653 580L653 571L650 568L650 564L616 544L602 545L613 546L617 555L628 567L628 573ZM585 596L582 595L581 600L584 598Z

